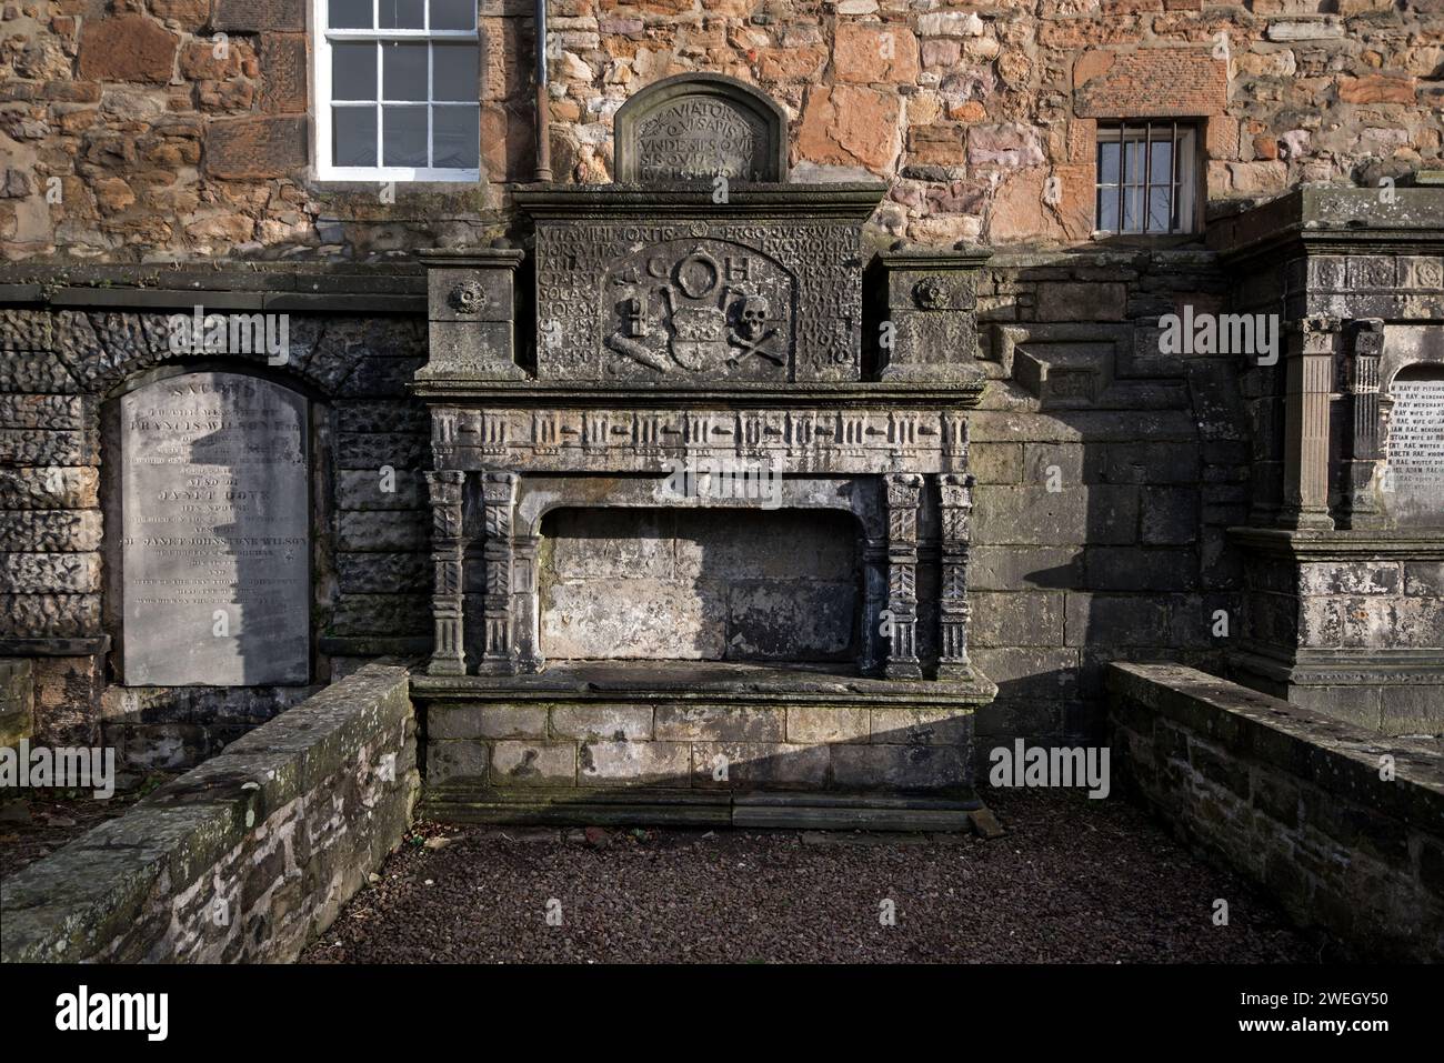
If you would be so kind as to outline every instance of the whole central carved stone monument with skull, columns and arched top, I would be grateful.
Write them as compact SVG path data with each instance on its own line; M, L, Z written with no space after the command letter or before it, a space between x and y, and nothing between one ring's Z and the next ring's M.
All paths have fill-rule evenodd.
M517 253L427 257L429 800L605 822L625 787L627 815L741 822L829 791L748 822L859 825L859 793L927 791L956 823L996 692L967 657L982 256L894 256L866 302L885 186L787 183L781 110L729 78L650 85L615 129L621 183L516 192L514 334ZM762 471L765 506L703 485Z

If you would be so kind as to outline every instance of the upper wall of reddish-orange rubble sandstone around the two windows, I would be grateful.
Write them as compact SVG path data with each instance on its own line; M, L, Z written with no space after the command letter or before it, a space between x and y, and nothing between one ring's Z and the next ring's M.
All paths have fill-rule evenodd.
M0 9L7 259L321 257L484 241L531 179L530 0L479 0L479 185L313 181L300 0ZM556 0L559 181L611 179L617 108L684 71L786 108L796 179L892 183L877 237L1089 240L1100 120L1200 124L1213 201L1441 155L1440 0ZM219 33L230 43L218 58Z

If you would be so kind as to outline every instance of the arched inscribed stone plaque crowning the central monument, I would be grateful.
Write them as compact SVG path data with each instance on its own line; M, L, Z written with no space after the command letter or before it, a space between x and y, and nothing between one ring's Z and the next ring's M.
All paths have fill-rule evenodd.
M787 179L787 117L736 78L663 78L622 104L615 127L621 183Z

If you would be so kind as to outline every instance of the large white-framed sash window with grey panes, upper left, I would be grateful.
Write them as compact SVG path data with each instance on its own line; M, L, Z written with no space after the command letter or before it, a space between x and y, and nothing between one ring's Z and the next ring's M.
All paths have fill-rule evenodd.
M477 0L316 0L318 170L478 181Z

